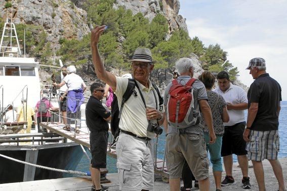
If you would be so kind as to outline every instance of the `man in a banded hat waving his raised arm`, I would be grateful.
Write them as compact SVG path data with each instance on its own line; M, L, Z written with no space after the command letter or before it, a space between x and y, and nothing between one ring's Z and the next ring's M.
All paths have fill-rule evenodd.
M106 82L115 92L118 103L122 101L129 79L115 77L104 68L98 42L105 25L92 30L91 47L97 77ZM132 74L137 87L122 107L116 142L119 189L153 190L153 141L155 133L148 131L149 122L162 124L159 98L148 79L153 70L153 60L148 48L137 48L132 58ZM150 128L149 128L150 130Z

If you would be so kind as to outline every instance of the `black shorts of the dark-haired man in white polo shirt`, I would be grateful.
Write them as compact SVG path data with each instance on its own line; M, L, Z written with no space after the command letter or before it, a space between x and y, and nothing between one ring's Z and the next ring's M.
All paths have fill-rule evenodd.
M246 122L239 122L232 126L225 126L222 137L221 156L247 155L246 142L243 139L243 132Z

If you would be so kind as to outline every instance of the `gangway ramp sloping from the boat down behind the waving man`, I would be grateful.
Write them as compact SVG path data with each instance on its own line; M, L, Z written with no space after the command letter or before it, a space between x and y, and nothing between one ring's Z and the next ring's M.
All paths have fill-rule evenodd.
M48 122L48 123L42 122L40 123L40 125L42 126L42 128L46 128L64 138L67 138L80 145L90 148L90 134L89 133L85 133L83 131L80 131L79 134L75 134L74 131L68 132L66 130L63 130L63 127L65 126L65 124L61 122ZM116 158L116 151L115 149L112 149L109 147L109 143L108 143L107 154L113 158ZM163 165L163 160L156 159L154 167L155 167L154 173L161 175L163 181L168 181L169 173L167 171L166 162Z

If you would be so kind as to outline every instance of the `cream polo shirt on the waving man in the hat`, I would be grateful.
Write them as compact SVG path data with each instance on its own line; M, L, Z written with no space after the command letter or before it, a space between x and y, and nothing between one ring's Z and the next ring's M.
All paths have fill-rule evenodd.
M118 108L120 108L122 95L124 95L127 87L128 87L129 79L123 77L116 77L116 97L118 100ZM149 88L146 88L141 83L137 81L139 88L143 94L145 99L145 103L147 107L156 108L155 105L155 97L157 99L157 110L159 111L159 101L158 95L155 89L152 87L150 81ZM132 132L133 134L140 136L140 137L149 137L154 138L155 133L147 132L147 125L148 121L146 118L146 109L144 103L142 101L141 95L137 88L135 88L137 92L137 96L134 94L125 102L124 107L122 108L120 120L119 120L119 128L121 130L125 130L128 132ZM154 94L153 94L154 91ZM163 111L160 111L163 112ZM151 120L152 123L156 123L156 120Z

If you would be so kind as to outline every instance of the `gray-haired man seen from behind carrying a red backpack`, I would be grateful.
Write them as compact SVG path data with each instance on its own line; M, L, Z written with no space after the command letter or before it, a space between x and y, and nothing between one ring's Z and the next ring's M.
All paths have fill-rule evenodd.
M167 113L165 119L167 121L164 123L167 130L167 167L170 173L170 189L174 191L180 189L180 175L185 160L195 179L199 181L200 190L210 189L209 159L202 128L199 125L199 108L209 129L210 144L215 142L216 136L213 130L211 108L207 102L206 88L201 81L192 79L194 73L193 62L194 60L191 58L180 58L176 62L176 70L180 76L167 86L163 96L163 105ZM193 81L192 85L190 85L190 80ZM186 128L181 128L180 125L174 125L171 122L172 105L169 102L172 99L171 90L175 86L174 84L177 84L177 86L182 85L181 87L191 86L188 88L188 92L189 95L192 94L193 103L187 105L188 107L192 105L192 111L190 114L186 113L186 116L188 115L188 120L192 118L192 121L195 122L189 123L190 125L187 124ZM178 110L182 110L181 105L179 105ZM190 115L192 116L190 117ZM178 118L180 117L182 116L179 113Z

